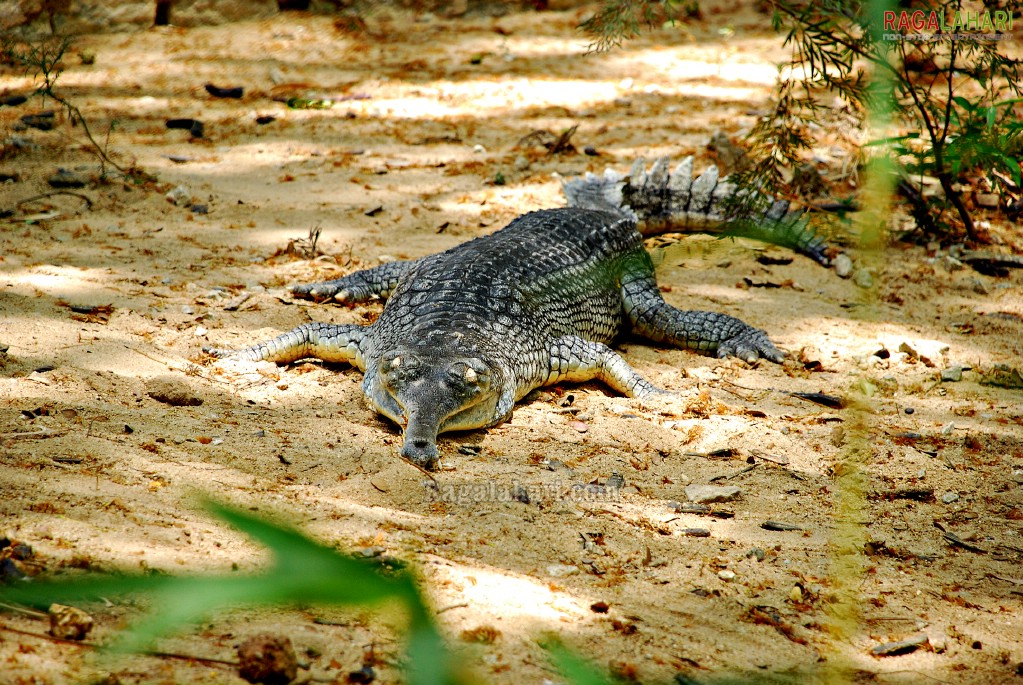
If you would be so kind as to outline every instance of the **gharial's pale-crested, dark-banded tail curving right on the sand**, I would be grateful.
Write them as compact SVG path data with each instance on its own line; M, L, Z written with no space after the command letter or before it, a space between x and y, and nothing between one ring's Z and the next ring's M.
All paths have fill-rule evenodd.
M669 231L717 233L789 247L828 266L828 243L808 225L805 211L790 211L787 200L772 200L756 190L740 189L719 178L711 166L693 176L688 156L668 171L660 157L648 171L640 157L628 176L608 170L563 184L569 207L623 214L640 224L643 235Z

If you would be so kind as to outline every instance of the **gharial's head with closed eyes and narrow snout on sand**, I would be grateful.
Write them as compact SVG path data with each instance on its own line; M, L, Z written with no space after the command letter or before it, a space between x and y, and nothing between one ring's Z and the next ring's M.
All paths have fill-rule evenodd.
M366 380L376 410L405 429L401 455L427 468L437 465L438 433L482 428L500 418L504 374L478 356L396 349L380 358Z

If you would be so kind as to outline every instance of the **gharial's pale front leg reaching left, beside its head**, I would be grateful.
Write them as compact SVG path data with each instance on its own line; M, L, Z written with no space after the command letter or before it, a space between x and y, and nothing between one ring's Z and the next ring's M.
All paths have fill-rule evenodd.
M273 339L244 350L203 348L203 352L219 358L280 364L315 357L324 362L348 362L365 370L362 354L365 337L366 328L358 324L304 323Z

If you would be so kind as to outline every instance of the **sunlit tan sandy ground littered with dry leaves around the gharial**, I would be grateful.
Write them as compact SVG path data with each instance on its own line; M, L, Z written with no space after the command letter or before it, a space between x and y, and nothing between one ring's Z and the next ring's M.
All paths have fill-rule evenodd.
M780 248L705 238L659 248L670 302L763 327L790 360L750 367L627 340L627 359L681 401L647 405L598 384L540 392L505 425L442 438L439 491L398 458L399 432L363 402L355 370L203 358L203 345L243 346L305 321L371 320L380 305L314 305L286 286L437 252L558 206L559 175L625 170L637 155L713 163L711 135L752 126L787 54L765 16L739 7L584 56L574 30L583 15L382 11L363 36L288 15L81 39L61 91L95 131L116 120L112 154L159 182L90 183L80 192L91 208L54 196L0 223L0 533L35 549L33 573L258 568L259 548L197 508L196 494L212 494L417 566L479 682L557 682L537 643L550 632L640 682L1018 677L1023 410L1019 391L980 381L995 364L1019 365L1019 274L984 276L943 252L895 246L866 292L803 258L757 262L785 257ZM211 98L208 82L246 95ZM28 84L8 68L0 91ZM281 100L293 96L335 104L290 109ZM0 186L0 208L48 190L57 167L97 169L79 129L12 131L39 107L0 108L4 136L31 143L4 148L0 168L19 180ZM257 124L264 116L275 119ZM854 190L845 163L857 138L845 117L825 125L818 154L837 195ZM172 118L201 119L206 137L168 130ZM575 125L580 153L518 144ZM179 186L208 213L169 202ZM990 221L1018 243L1004 218ZM315 227L323 255L308 259L301 239ZM953 365L968 367L962 380L939 382ZM161 382L202 404L153 399ZM791 392L863 399L829 409ZM614 473L624 478L616 493L575 488ZM677 510L686 486L708 484L741 489L712 505L732 517ZM529 503L509 496L516 486ZM765 530L768 520L801 530ZM709 535L686 533L696 528ZM607 612L592 608L601 602ZM87 608L97 640L138 614ZM2 622L46 628L16 612ZM234 645L269 631L296 644L308 666L300 678L330 682L372 644L377 682L396 682L394 623L238 610L162 647L233 658ZM481 627L496 631L490 644L462 638ZM921 634L928 642L910 653L870 653ZM104 672L122 683L242 682L229 667L112 665L0 632L0 682Z

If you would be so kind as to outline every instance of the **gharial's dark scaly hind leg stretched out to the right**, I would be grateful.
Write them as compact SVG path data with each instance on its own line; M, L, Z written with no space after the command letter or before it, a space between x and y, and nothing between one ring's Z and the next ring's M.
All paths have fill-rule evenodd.
M652 340L749 363L761 357L779 364L785 360L785 353L759 328L727 314L683 311L664 302L652 272L622 283L622 304L632 329Z

